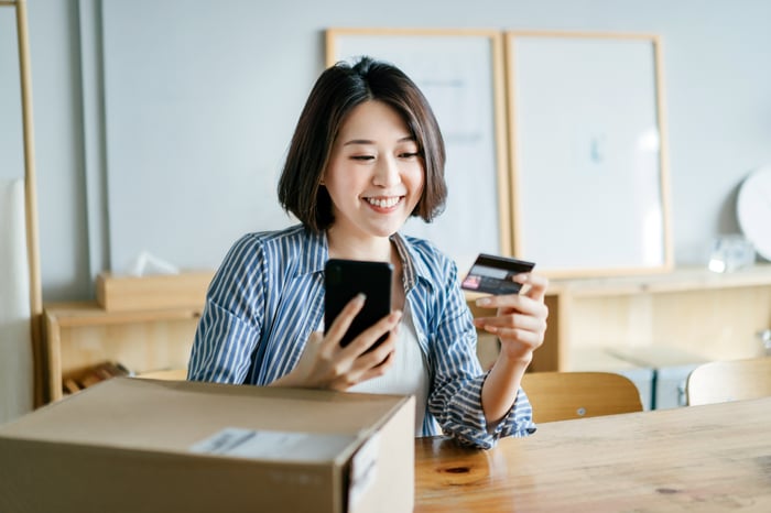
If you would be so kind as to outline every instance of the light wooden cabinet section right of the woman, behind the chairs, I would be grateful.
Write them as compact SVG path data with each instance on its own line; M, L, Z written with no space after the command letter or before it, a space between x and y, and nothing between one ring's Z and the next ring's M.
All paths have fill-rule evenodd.
M598 348L670 347L706 360L762 354L771 327L771 265L727 274L705 269L607 279L554 280L546 340L534 371L590 367Z

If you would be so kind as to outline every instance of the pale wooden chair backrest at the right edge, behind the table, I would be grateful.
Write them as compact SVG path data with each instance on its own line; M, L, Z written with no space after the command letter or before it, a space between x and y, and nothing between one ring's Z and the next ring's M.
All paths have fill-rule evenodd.
M685 395L688 405L770 396L771 357L703 363L688 374Z

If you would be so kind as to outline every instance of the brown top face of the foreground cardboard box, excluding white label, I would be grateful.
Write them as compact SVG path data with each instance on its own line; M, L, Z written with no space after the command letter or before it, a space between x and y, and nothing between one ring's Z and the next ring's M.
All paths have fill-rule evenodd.
M377 430L406 400L115 378L0 426L0 436L184 452L224 427L347 434L356 439L366 436L360 432Z

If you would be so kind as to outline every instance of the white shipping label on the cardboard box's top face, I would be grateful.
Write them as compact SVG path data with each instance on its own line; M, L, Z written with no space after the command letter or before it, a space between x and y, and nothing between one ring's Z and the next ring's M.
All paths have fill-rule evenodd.
M355 439L351 435L226 427L193 444L189 450L276 461L329 461Z

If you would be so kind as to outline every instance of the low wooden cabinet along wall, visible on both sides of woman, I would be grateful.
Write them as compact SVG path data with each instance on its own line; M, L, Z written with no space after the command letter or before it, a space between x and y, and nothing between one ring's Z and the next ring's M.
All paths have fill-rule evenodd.
M706 360L759 356L758 332L771 327L771 265L715 274L682 269L648 276L554 280L546 340L533 371L591 367L597 349L655 346ZM62 397L62 379L113 360L139 372L184 369L199 309L106 312L96 303L47 305L47 401ZM480 339L480 359L496 342Z

